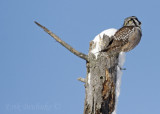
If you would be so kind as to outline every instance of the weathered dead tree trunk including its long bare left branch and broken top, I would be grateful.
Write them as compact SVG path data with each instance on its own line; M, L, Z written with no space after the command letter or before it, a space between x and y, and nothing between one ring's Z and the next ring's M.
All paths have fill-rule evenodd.
M80 81L85 82L86 96L84 114L111 114L115 110L116 103L116 82L117 69L119 68L119 52L115 50L104 50L106 50L107 46L110 45L112 38L103 34L102 38L97 37L98 40L100 40L100 42L97 42L98 45L100 44L100 48L96 48L98 51L93 53L93 49L96 46L92 41L90 43L89 54L85 55L72 48L66 42L62 41L57 35L38 22L35 23L70 52L86 60L87 77L86 79L79 78ZM112 33L114 32L115 30L112 30ZM110 30L108 33L108 35L111 35Z

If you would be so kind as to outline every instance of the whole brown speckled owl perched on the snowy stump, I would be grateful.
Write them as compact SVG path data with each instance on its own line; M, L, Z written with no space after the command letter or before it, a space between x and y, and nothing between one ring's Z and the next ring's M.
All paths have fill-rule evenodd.
M123 27L114 34L107 51L128 52L138 45L141 36L141 22L135 16L128 17L124 20Z

